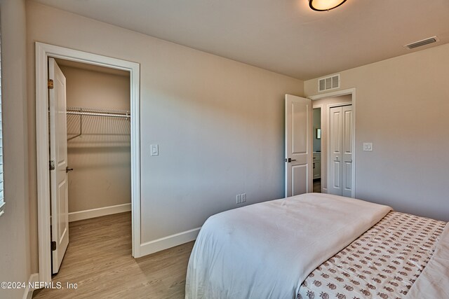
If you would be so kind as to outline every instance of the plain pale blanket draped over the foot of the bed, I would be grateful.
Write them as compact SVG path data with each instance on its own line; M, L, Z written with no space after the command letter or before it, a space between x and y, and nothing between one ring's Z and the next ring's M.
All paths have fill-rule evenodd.
M309 193L211 216L187 268L186 298L295 298L317 266L390 207Z

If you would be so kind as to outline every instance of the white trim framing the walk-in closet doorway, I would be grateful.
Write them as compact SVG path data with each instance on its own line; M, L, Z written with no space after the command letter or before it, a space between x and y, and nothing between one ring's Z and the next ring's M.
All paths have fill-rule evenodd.
M39 281L51 282L50 175L48 162L48 57L130 73L130 155L133 257L140 254L140 64L36 42L36 163Z

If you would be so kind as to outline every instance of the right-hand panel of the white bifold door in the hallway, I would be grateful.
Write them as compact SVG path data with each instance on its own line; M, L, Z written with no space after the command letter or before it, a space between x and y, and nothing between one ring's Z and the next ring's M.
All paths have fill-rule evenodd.
M352 193L352 106L342 106L342 195Z

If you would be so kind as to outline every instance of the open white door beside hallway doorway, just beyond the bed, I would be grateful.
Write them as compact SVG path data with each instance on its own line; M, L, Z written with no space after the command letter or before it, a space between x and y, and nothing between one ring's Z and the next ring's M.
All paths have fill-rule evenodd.
M312 192L311 99L286 95L286 197Z

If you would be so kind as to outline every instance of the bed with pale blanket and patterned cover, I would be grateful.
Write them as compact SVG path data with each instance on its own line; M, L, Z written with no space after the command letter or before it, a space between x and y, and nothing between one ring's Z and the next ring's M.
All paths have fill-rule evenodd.
M208 218L186 298L449 298L449 226L308 193Z

